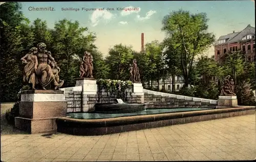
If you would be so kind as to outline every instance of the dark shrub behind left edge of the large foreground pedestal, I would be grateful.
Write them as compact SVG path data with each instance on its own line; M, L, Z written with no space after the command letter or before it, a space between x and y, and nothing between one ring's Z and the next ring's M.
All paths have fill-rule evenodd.
M7 110L6 111L6 120L8 122L8 124L14 125L14 118L18 117L19 115L19 102L22 96L22 91L24 90L29 90L29 86L23 86L22 89L19 90L18 94L17 94L17 98L18 100L14 103L13 107L11 108L11 110Z

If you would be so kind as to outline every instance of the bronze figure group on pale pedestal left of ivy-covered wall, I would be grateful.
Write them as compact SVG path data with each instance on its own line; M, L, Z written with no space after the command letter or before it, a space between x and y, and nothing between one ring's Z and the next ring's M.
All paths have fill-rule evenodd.
M90 52L85 51L80 65L80 77L93 78L93 56Z

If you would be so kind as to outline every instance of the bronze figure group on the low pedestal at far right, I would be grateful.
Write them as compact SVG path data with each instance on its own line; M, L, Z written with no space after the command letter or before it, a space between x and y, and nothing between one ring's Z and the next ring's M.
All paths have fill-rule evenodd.
M227 75L221 82L221 96L234 96L234 81Z

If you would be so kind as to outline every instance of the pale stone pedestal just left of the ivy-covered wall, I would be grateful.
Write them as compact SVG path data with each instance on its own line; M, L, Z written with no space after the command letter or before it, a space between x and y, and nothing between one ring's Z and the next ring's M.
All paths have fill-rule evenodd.
M82 111L92 112L94 111L94 105L96 103L96 96L98 91L98 86L94 78L77 78L76 87L82 87ZM88 103L90 98L95 98L95 103Z

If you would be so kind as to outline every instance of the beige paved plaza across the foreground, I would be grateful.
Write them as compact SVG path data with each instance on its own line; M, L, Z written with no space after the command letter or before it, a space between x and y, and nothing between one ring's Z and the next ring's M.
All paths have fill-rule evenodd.
M255 114L109 134L2 134L2 161L245 160L256 157Z

